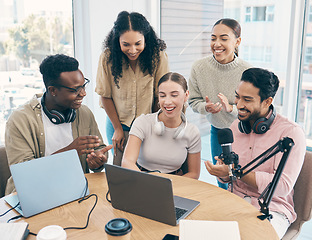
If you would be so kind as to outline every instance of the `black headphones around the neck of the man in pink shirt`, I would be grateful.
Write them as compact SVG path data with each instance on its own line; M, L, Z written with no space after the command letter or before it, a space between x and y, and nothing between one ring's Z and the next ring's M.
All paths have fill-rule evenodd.
M272 110L271 116L269 118L265 117L259 118L257 121L255 121L252 127L250 126L249 121L239 121L238 123L239 131L246 134L249 134L251 130L253 130L257 134L266 133L269 130L276 116L276 110L272 104L270 105L270 109Z

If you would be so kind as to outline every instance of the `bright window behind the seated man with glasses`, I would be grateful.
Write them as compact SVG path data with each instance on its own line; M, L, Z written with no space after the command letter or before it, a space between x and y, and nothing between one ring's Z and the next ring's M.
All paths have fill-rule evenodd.
M39 64L73 56L72 1L0 1L0 144L11 112L44 91Z

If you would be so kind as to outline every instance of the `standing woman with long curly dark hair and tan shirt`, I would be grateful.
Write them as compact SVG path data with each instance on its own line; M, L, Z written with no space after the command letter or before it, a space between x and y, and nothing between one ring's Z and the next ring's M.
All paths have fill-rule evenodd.
M142 14L123 11L103 49L95 91L109 118L106 135L114 146L114 164L121 165L133 121L158 110L157 84L169 72L166 44Z

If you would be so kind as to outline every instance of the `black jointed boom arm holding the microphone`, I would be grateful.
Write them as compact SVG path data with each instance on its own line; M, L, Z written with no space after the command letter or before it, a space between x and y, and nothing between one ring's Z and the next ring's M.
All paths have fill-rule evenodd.
M274 174L272 182L268 184L268 186L264 189L264 191L258 197L258 203L261 207L260 211L261 213L263 213L263 215L258 216L258 218L261 220L264 220L264 219L270 220L272 218L272 215L269 213L269 204L271 202L274 191L277 187L278 181L281 177L281 174L283 172L290 150L293 147L293 145L294 145L294 141L291 138L289 137L282 138L277 143L275 143L272 147L270 147L268 150L260 154L258 157L256 157L254 160L252 160L251 162L249 162L242 168L240 167L240 165L238 165L238 157L236 156L236 154L233 152L231 153L234 155L234 157L230 158L233 160L232 162L230 162L230 164L234 165L232 169L232 173L233 173L234 178L236 177L237 179L244 177L245 175L250 173L252 170L260 166L262 163L266 162L268 159L276 155L278 152L283 153L283 156L281 158L280 163L278 164L278 167ZM258 161L258 163L256 163L256 161ZM254 163L256 164L253 167L250 167ZM250 168L246 170L248 167ZM232 186L233 186L233 182L232 182Z

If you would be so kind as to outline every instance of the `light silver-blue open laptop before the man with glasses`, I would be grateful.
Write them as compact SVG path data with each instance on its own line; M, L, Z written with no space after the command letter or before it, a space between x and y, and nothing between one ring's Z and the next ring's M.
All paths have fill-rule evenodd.
M89 194L76 150L10 166L17 195L5 201L30 217Z

